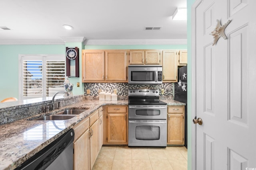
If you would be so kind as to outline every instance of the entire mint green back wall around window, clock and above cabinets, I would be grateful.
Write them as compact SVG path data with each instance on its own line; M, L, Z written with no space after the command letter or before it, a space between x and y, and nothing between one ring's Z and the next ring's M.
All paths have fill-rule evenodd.
M19 54L53 54L65 55L66 47L79 49L187 49L187 45L83 45L82 43L66 43L65 45L0 45L0 101L8 97L18 98L18 55ZM69 78L74 84L73 94L84 94L82 84L82 50L80 50L80 77ZM80 82L80 87L76 83Z

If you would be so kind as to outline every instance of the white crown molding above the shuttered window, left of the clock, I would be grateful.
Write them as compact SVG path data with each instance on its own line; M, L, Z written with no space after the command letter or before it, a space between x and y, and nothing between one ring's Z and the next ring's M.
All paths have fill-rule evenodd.
M65 45L59 39L2 39L0 45Z

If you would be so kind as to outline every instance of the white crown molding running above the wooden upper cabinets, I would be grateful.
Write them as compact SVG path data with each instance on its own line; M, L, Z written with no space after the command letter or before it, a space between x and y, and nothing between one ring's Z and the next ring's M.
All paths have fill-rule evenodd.
M187 39L99 39L84 41L84 45L186 45Z

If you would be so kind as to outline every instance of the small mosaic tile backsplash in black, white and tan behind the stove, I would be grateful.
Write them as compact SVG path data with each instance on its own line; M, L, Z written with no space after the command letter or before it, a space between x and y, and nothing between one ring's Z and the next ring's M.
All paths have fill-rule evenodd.
M98 91L114 93L114 89L117 90L118 96L128 96L129 89L164 89L164 94L160 93L160 96L172 96L173 83L163 83L158 85L144 85L144 84L128 84L128 83L84 83L84 95L85 96L98 96ZM87 94L86 90L90 90L90 94Z

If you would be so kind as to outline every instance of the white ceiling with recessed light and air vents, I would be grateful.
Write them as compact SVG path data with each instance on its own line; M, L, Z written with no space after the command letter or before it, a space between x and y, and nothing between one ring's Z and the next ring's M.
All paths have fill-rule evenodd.
M11 30L0 30L0 41L186 39L186 21L171 20L177 7L186 0L1 0L0 27Z

